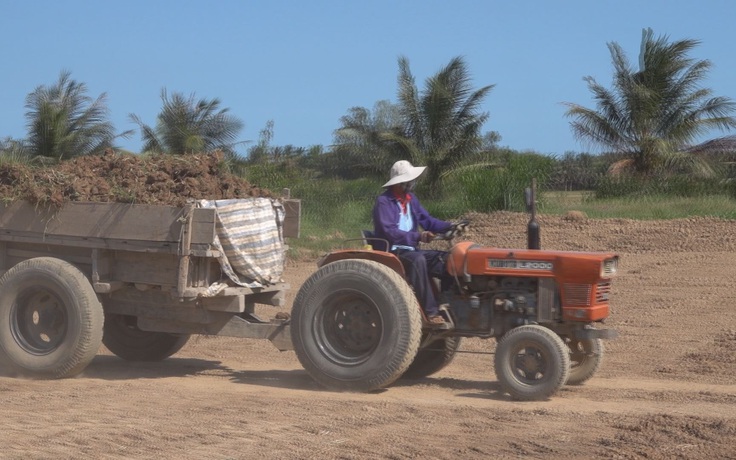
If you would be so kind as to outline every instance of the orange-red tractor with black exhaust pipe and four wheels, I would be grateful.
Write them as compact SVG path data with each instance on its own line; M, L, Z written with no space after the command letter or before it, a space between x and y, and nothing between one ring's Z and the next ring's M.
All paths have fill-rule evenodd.
M603 359L602 339L616 335L596 326L610 312L618 256L540 250L531 189L527 205L527 249L451 247L447 270L455 283L440 293L451 330L429 327L395 255L326 255L294 301L291 337L301 364L327 388L371 391L433 374L450 363L462 337L479 337L497 340L496 376L514 399L546 399L590 379ZM465 225L443 239L451 242Z

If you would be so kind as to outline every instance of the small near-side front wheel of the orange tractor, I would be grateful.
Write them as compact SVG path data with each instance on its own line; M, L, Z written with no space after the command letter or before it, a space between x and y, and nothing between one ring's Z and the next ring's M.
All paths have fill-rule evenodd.
M570 371L569 351L560 336L537 325L504 334L494 361L503 391L521 401L549 398L565 384Z

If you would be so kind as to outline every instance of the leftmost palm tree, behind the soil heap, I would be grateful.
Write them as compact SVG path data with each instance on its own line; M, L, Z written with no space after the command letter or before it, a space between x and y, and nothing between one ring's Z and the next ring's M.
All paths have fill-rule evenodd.
M52 86L39 86L26 97L28 139L31 155L62 160L89 155L112 147L117 137L108 121L107 95L87 96L87 87L62 71Z

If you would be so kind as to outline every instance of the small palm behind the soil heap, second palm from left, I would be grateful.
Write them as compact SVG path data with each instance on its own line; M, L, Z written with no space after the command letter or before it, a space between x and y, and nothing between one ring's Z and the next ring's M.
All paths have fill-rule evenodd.
M221 150L234 155L233 146L243 122L220 109L219 99L196 100L182 93L173 93L169 98L166 89L161 90L163 107L152 128L131 114L130 118L141 128L144 152L187 153Z

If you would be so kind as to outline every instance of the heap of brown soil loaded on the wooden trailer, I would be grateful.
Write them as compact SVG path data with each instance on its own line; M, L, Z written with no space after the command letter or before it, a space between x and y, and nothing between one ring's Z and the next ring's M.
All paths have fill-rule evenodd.
M102 155L31 167L0 164L0 198L61 206L67 201L183 206L189 200L271 197L227 171L221 153Z

